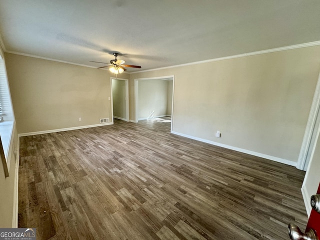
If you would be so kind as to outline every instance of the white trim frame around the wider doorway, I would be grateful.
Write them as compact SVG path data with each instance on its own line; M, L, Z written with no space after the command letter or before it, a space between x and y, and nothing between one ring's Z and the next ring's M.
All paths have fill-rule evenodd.
M172 105L171 105L171 128L172 132L173 125L173 102L174 102L174 75L168 76L155 76L155 77L143 77L143 78L134 78L134 122L138 122L138 82L139 80L153 80L153 79L162 79L162 78L172 78Z

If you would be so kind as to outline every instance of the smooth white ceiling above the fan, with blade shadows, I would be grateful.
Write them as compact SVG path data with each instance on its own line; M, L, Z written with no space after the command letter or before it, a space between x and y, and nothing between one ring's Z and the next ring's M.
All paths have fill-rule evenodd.
M5 51L127 72L320 40L320 0L0 0Z

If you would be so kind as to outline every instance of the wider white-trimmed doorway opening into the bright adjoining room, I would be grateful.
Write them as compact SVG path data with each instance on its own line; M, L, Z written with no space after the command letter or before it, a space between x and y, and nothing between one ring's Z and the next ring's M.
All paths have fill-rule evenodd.
M134 79L135 122L169 116L172 131L173 93L174 75Z

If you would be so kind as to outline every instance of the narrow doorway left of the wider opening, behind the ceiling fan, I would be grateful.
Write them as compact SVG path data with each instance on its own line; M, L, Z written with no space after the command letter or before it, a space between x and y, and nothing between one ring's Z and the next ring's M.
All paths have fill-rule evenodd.
M129 79L111 77L112 119L129 121Z

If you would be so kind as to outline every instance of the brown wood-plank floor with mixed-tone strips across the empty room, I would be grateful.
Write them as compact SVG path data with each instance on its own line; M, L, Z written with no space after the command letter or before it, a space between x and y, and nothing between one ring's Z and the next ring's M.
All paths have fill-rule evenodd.
M289 239L295 167L169 133L170 123L20 137L18 226L37 239Z

